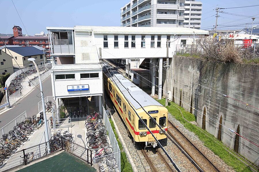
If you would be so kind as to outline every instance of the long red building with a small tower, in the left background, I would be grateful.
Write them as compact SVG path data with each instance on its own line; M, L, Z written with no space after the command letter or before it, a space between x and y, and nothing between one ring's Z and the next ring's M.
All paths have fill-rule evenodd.
M50 57L49 39L47 36L22 36L20 26L13 27L14 36L1 36L0 46L19 45L19 46L40 46L46 49L46 56Z

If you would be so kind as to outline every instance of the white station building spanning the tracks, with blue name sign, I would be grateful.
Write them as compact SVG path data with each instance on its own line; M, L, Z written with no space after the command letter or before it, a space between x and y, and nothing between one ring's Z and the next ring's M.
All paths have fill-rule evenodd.
M54 98L71 102L70 104L77 103L77 106L85 102L91 104L93 100L93 107L87 106L88 109L97 108L98 105L101 107L103 89L99 57L123 61L123 65L127 66L125 68L128 76L134 76L130 69L137 69L146 63L145 58L148 62L152 58L152 62L162 68L167 39L171 41L169 57L172 57L177 44L192 44L193 38L208 34L204 30L172 27L75 26L47 27L47 30L50 35L51 56L57 58L56 65L52 67ZM151 72L152 76L156 75L154 71ZM162 82L162 78L156 82ZM79 86L79 89L69 91L72 86L74 89ZM82 86L89 89L81 90ZM92 97L91 101L89 97Z

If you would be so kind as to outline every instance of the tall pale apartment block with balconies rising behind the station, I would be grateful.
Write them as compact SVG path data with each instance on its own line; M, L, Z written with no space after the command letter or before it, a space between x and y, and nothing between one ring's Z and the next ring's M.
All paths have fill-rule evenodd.
M121 26L201 28L201 1L131 0L121 7Z

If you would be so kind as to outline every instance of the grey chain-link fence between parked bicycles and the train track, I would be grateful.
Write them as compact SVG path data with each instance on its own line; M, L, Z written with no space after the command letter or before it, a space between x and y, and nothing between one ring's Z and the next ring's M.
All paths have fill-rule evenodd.
M102 116L103 116L103 122L104 122L104 125L106 127L106 130L108 132L108 137L109 137L109 140L110 140L110 145L111 147L113 148L113 154L110 154L110 155L106 155L106 156L102 156L102 157L94 157L94 163L96 164L103 164L107 161L108 158L115 158L116 160L116 168L117 170L116 171L121 171L121 151L120 151L120 148L119 148L119 145L118 145L118 142L116 140L116 137L114 135L114 132L113 132L113 129L111 127L111 123L109 121L109 118L108 118L108 112L105 111L104 107L102 107L103 109L103 112L102 112Z

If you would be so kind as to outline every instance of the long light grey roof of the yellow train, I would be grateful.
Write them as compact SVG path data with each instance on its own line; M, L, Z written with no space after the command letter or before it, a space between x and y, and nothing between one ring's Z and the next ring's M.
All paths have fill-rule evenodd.
M123 77L123 75L119 74L116 70L108 68L107 66L103 67L103 72L105 75L111 79L114 83L117 84L119 89L122 91L123 95L128 99L128 101L135 107L135 109L139 109L146 106L163 106L158 101L153 99L150 95L136 86L134 83ZM112 76L111 76L112 75ZM116 78L117 77L117 78ZM124 88L124 87L126 88ZM136 99L136 102L134 99ZM138 104L140 103L140 105Z

